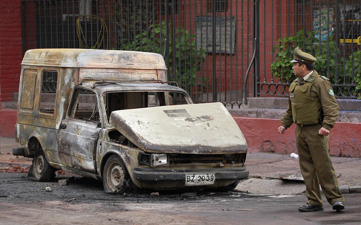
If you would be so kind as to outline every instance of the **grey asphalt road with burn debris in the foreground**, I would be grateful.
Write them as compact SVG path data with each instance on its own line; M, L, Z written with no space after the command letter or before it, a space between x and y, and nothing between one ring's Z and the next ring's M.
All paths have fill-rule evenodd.
M108 195L102 183L81 176L60 186L26 174L0 173L0 224L360 224L361 194L347 194L346 209L302 213L304 195L251 195L151 191ZM45 191L51 187L53 192Z

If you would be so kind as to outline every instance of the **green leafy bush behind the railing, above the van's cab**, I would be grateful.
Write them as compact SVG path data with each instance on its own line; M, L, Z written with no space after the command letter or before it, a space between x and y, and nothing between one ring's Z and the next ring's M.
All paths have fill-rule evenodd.
M197 48L194 43L195 35L181 26L175 30L175 49L172 49L171 24L169 22L169 57L170 80L178 82L180 87L191 92L207 92L209 89L209 78L201 77L198 72L201 63L204 62L206 51ZM148 51L159 54L165 53L165 40L167 35L166 22L150 25L148 31L136 36L133 42L122 45L122 50Z

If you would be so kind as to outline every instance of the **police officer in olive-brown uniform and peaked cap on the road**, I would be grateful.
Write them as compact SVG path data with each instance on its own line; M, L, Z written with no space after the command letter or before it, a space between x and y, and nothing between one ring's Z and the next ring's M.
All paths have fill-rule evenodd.
M330 80L313 70L317 61L300 48L294 50L293 72L298 77L289 87L286 113L281 119L279 133L296 126L296 145L300 168L306 184L307 203L301 212L322 211L320 187L336 211L342 210L344 198L329 156L330 130L338 117L338 104Z

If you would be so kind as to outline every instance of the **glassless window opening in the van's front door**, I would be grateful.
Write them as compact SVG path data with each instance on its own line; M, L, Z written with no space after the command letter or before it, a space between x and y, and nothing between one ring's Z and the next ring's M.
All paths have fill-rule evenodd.
M73 96L69 117L98 123L100 114L95 92L77 89Z

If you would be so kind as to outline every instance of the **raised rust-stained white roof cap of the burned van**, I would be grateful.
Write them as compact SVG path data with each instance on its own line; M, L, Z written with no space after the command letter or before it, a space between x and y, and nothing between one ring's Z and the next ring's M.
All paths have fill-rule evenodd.
M25 53L22 65L167 70L157 53L96 49L32 49Z

